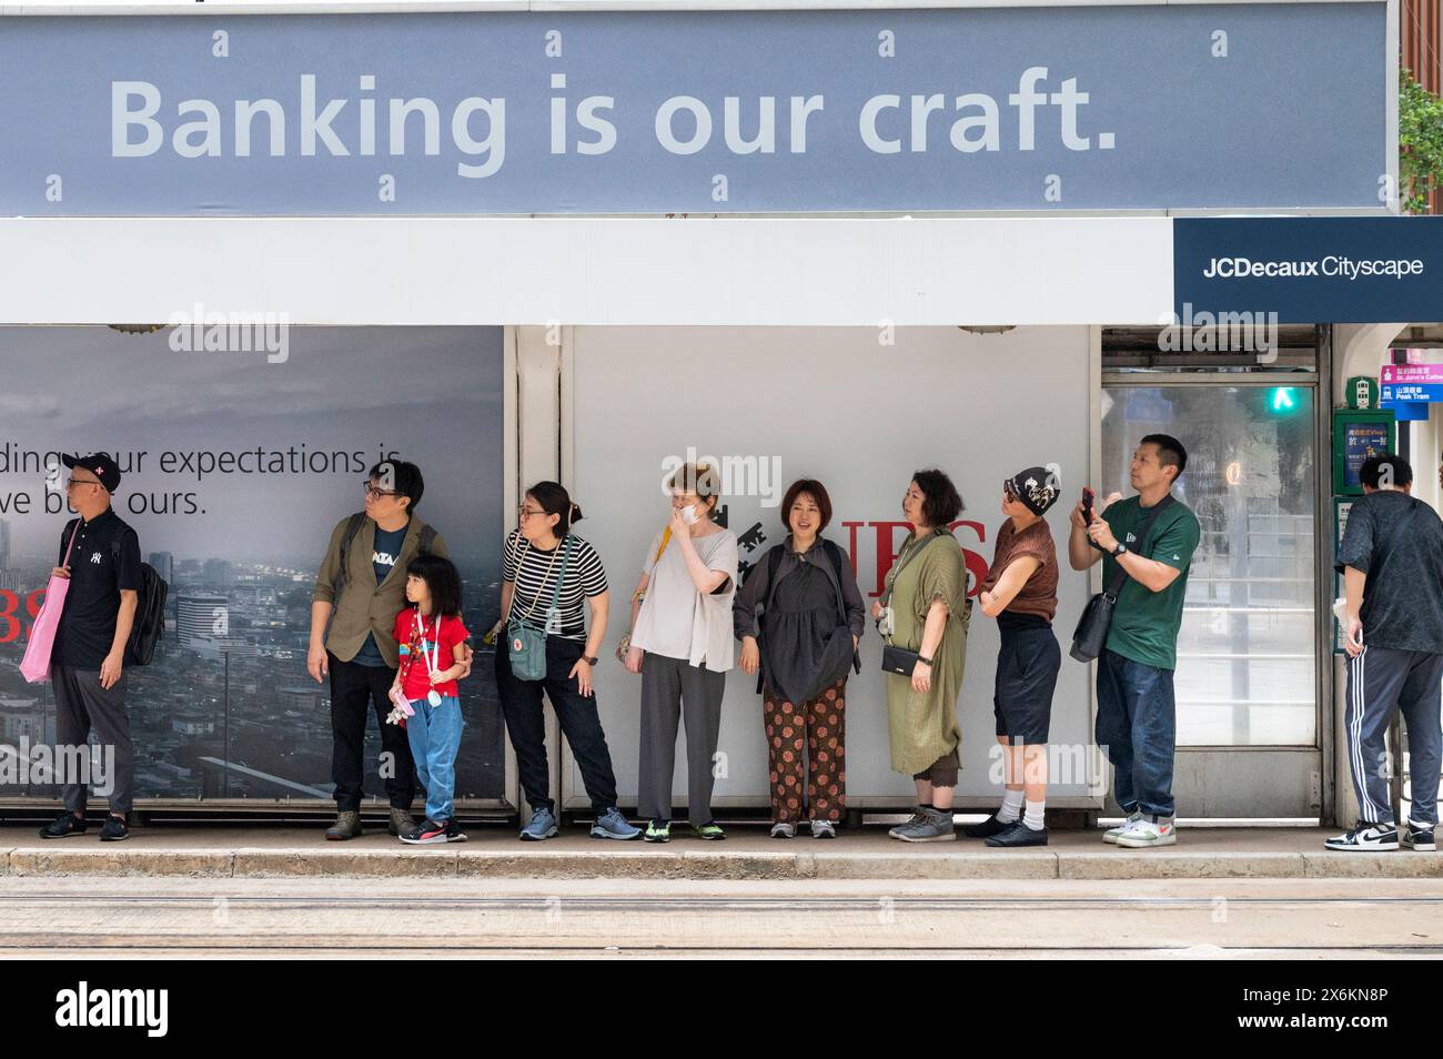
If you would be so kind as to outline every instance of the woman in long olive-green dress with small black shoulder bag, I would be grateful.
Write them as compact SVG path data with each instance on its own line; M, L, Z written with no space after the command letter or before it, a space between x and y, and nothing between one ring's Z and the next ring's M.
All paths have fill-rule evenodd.
M909 675L887 672L887 734L892 768L916 781L916 811L887 834L905 843L944 843L952 830L957 789L957 697L967 658L967 566L948 525L962 511L952 480L919 470L902 498L912 534L887 571L882 599L872 606L890 646L915 651Z

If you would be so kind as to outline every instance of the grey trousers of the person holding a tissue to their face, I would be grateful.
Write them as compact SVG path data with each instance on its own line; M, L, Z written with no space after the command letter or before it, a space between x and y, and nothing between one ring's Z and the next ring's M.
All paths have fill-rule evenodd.
M671 819L671 781L677 760L677 721L687 726L687 818L711 822L711 785L722 734L726 674L684 658L646 654L641 665L641 768L636 811Z

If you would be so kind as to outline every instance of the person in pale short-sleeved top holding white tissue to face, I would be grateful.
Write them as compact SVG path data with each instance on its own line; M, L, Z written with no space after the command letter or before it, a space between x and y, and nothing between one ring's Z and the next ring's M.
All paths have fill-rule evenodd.
M632 593L626 668L641 674L638 809L648 843L671 840L677 723L687 730L687 814L701 838L726 838L711 818L722 697L732 668L736 535L711 515L720 499L714 467L684 465L667 482L671 519L646 547Z

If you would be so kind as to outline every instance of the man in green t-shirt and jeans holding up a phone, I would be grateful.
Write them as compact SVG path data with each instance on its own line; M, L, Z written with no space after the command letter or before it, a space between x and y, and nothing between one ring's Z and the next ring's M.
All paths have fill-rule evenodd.
M1177 841L1173 669L1188 567L1201 537L1196 515L1172 495L1186 465L1182 441L1149 434L1133 453L1130 480L1137 495L1124 501L1113 493L1091 521L1078 504L1068 538L1074 570L1102 560L1104 584L1123 576L1097 659L1097 742L1107 747L1117 804L1127 812L1127 822L1104 840L1131 848Z

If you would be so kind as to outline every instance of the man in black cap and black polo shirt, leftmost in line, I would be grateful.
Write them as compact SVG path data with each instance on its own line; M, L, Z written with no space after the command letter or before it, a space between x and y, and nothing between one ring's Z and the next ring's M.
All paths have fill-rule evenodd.
M71 581L51 651L55 736L61 747L84 747L94 729L102 753L113 755L110 817L100 838L114 843L130 837L126 814L134 752L126 713L126 643L140 602L140 538L110 506L120 467L108 453L62 456L61 462L71 469L65 493L79 518L61 532L53 571ZM65 812L40 828L42 838L85 832L85 776L66 776L63 795Z

